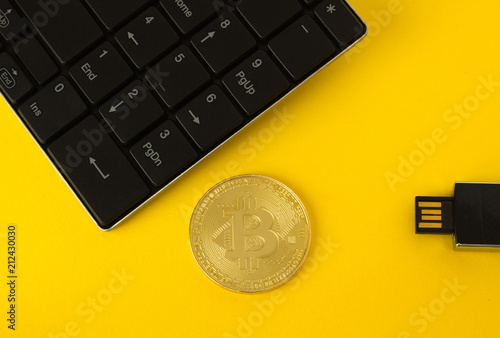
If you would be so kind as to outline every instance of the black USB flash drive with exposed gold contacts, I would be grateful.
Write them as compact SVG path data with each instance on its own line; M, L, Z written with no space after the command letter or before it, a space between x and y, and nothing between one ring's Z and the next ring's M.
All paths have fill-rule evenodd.
M455 197L416 197L417 234L454 234L458 247L500 248L500 184L456 183Z

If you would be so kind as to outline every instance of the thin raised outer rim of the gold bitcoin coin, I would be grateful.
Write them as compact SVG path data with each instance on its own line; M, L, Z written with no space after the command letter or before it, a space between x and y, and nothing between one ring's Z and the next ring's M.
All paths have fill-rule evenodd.
M233 180L238 180L238 179L242 179L242 178L260 178L260 179L264 179L264 180L269 180L269 181L272 181L280 186L282 186L283 188L285 188L293 197L295 197L295 199L298 201L299 205L302 207L302 210L304 211L304 217L306 219L306 222L307 222L307 230L308 230L308 240L307 240L307 246L305 248L305 253L302 257L302 260L300 261L299 265L297 265L297 269L295 269L295 271L293 273L291 273L290 275L288 275L288 277L281 281L280 283L272 286L271 288L269 289L265 289L265 290L258 290L258 291L246 291L246 290L236 290L236 289L231 289L225 285L222 285L220 284L219 282L217 282L216 280L214 280L212 278L212 276L210 276L206 271L205 269L203 269L203 267L200 265L200 262L198 262L198 260L196 259L196 255L195 255L195 251L194 251L194 248L193 248L193 241L192 241L192 237L191 237L191 233L192 233L192 228L193 228L193 223L194 223L194 219L195 219L195 215L196 215L196 212L198 211L200 205L202 204L202 202L205 200L205 198L214 190L216 189L217 187L225 184L226 182L229 182L229 181L233 181ZM285 184L281 183L280 181L278 180L275 180L274 178L270 178L268 176L263 176L263 175L238 175L238 176L234 176L234 177L230 177L230 178L227 178L217 184L215 184L213 187L211 187L210 189L207 190L207 192L205 194L203 194L203 196L200 198L200 200L198 201L198 203L196 204L196 206L194 207L193 209L193 213L191 215L191 220L189 221L189 246L191 248L191 254L193 255L193 258L196 262L196 264L198 265L198 267L201 269L201 271L203 271L203 273L208 277L210 278L210 280L212 282L214 282L215 284L217 284L218 286L226 289L226 290L229 290L229 291L232 291L232 292L236 292L236 293L239 293L239 294L256 294L256 293L264 293L264 292L270 292L274 289L277 289L285 284L287 284L298 272L299 270L302 268L302 265L304 264L304 262L306 261L307 259L307 256L309 255L309 249L311 247L311 223L310 223L310 220L309 220L309 215L307 213L307 209L304 205L304 203L302 202L302 200L293 192L292 189L290 189L288 186L286 186Z

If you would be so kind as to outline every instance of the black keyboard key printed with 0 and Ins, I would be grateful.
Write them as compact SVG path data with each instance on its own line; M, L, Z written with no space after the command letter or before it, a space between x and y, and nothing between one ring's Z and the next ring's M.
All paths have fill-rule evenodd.
M24 120L42 143L86 111L85 103L63 76L52 81L19 108Z

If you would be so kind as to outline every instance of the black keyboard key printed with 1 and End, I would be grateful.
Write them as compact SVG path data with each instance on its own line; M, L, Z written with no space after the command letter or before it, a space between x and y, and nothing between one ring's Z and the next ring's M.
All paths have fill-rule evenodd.
M133 75L109 42L80 60L69 73L92 103L103 99Z

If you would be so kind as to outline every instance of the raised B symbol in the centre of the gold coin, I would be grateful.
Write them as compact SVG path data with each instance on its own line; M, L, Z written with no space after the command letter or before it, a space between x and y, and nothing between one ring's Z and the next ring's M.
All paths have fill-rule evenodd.
M226 209L224 217L232 218L232 249L227 250L226 258L238 261L241 270L256 270L259 260L270 256L278 248L278 236L271 230L273 215L257 208L255 198L238 199L236 210Z

